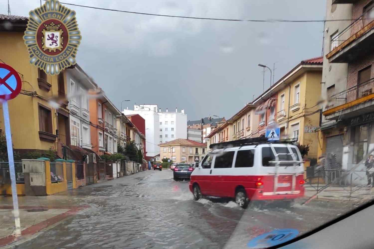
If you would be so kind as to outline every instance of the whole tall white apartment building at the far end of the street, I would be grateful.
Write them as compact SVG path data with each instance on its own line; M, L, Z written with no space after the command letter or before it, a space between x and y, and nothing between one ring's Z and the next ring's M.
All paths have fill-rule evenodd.
M157 112L158 110L158 112ZM184 109L178 112L161 112L158 105L134 105L134 110L126 108L123 114L139 114L145 120L145 148L147 156L156 156L160 153L157 144L165 143L177 138L187 139L187 115Z

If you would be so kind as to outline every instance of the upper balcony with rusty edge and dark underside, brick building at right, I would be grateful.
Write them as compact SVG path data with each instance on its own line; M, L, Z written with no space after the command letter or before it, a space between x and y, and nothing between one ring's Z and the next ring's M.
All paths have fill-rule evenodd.
M367 18L370 15L373 15L373 13L363 13L331 40L331 46L334 48L326 55L329 62L354 62L373 52L374 21L373 18Z

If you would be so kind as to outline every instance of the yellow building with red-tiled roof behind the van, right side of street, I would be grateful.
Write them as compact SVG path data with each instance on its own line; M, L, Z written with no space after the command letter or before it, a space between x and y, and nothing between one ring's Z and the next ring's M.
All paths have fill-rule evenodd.
M257 109L267 110L266 117L259 119L265 121L262 129L276 124L281 128L281 139L296 138L300 144L309 145L309 159L317 159L319 147L322 62L322 57L301 61L253 101L262 103ZM274 101L268 102L269 98ZM270 107L263 108L269 103Z

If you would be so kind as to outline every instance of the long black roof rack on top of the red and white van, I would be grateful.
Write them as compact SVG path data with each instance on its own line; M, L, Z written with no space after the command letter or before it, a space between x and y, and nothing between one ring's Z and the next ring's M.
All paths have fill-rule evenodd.
M254 137L254 138L246 138L246 139L239 139L234 141L227 141L223 143L214 143L209 145L210 149L223 149L227 146L237 147L237 146L246 146L246 145L257 145L261 143L295 143L297 142L296 138L290 139L282 139L282 140L267 140L266 137Z

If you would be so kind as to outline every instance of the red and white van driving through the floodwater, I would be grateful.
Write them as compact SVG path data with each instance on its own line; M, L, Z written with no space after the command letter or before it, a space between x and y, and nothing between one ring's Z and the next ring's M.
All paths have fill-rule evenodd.
M195 200L232 197L246 208L250 200L303 197L303 173L297 146L258 143L212 150L192 172L189 187Z

